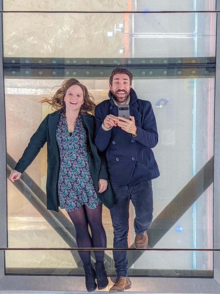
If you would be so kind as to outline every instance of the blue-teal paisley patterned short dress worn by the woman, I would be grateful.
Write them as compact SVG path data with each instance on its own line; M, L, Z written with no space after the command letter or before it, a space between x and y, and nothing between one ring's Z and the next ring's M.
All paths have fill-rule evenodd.
M89 169L87 134L81 115L76 120L73 133L69 133L63 113L57 125L56 138L60 152L58 196L60 208L74 211L82 205L94 209L101 201L97 197Z

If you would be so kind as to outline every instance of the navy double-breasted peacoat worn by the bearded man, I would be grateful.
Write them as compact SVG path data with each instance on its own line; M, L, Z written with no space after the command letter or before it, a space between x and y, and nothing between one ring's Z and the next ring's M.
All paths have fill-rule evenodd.
M104 131L101 125L109 114L118 116L118 106L109 98L95 108L95 143L99 151L106 151L110 182L126 185L131 181L136 168L136 178L151 180L160 173L153 151L158 143L158 132L153 108L149 101L137 98L135 91L130 92L130 115L134 116L137 136L116 126Z

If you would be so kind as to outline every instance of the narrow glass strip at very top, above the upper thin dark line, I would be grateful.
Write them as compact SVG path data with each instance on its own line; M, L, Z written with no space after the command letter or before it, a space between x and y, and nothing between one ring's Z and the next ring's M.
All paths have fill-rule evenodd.
M215 0L169 0L169 1L72 1L72 0L3 0L6 11L211 11Z

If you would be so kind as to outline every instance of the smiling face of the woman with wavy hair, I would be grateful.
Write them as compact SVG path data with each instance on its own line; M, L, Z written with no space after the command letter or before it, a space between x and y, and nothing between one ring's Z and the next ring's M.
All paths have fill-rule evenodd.
M78 85L70 86L66 92L64 101L66 108L78 111L84 102L82 88Z

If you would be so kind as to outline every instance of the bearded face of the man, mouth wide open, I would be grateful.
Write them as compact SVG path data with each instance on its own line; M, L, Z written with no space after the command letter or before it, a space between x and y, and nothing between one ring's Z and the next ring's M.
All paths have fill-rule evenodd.
M127 74L115 74L112 79L112 86L109 84L109 89L117 102L125 103L131 90L129 76Z

